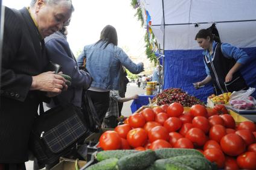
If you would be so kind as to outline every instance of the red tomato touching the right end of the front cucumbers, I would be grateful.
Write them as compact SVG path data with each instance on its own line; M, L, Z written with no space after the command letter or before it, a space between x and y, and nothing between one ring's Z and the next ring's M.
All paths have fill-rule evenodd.
M225 156L221 150L216 148L210 148L203 151L203 155L206 157L206 159L210 160L211 162L216 162L219 169L224 167Z

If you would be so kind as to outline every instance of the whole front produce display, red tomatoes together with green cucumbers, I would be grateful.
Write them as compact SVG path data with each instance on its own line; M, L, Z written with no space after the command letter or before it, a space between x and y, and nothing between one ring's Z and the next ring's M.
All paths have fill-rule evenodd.
M255 124L225 107L174 102L136 113L101 134L97 146L103 151L82 169L256 168Z

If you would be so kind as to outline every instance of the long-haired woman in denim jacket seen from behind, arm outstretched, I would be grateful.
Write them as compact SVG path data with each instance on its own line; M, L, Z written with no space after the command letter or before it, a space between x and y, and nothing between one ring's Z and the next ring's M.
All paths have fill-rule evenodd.
M101 31L100 40L86 45L77 60L78 66L83 66L86 61L86 69L93 78L88 95L91 96L101 123L109 107L109 91L120 89L122 65L133 74L139 74L144 69L143 63L133 63L117 44L117 31L107 25Z

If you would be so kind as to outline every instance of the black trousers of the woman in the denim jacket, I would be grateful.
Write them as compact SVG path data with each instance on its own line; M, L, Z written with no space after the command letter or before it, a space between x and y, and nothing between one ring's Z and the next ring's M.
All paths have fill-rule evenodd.
M95 92L88 90L87 93L92 99L92 103L94 104L98 118L102 124L107 109L109 109L109 92Z

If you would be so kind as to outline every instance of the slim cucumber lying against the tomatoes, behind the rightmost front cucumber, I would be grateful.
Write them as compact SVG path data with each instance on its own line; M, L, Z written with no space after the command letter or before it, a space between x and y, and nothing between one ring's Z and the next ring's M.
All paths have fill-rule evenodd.
M161 148L159 150L155 150L155 153L158 159L168 159L170 157L185 155L197 155L203 157L202 153L193 149Z

